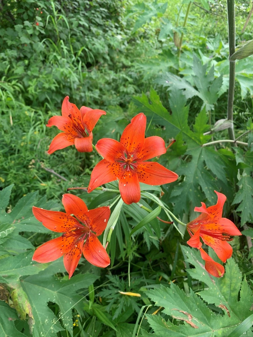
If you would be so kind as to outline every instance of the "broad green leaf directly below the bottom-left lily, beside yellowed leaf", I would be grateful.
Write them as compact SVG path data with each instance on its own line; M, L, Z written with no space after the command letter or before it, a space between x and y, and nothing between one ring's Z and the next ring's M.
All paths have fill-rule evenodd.
M70 280L59 280L43 272L23 279L22 286L31 303L35 320L34 336L56 336L56 332L63 330L56 316L47 306L49 301L59 305L62 323L72 335L71 309L75 307L78 311L82 311L83 296L78 295L77 291L87 288L96 279L96 275L86 273L73 276Z

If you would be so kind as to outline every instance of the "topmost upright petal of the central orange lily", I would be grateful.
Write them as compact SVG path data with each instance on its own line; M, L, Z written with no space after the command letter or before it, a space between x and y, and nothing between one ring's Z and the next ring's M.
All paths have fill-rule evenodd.
M131 123L124 129L120 143L129 153L140 152L144 145L146 116L143 113L131 119Z

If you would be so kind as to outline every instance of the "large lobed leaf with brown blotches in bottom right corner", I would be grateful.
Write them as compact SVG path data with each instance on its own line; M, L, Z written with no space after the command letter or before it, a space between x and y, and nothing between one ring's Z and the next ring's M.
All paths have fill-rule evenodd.
M187 261L196 267L188 272L195 279L204 282L208 288L197 294L190 289L189 296L186 296L182 289L171 283L170 287L161 286L147 292L157 306L164 308L162 312L173 318L172 323L166 318L168 316L147 315L148 323L154 331L153 335L228 336L238 324L251 317L253 297L246 279L242 281L242 274L233 259L228 260L224 277L213 279L203 269L200 254L191 248L182 248L188 256ZM208 307L207 304L214 304L215 307ZM222 309L224 314L221 314L218 308ZM246 325L241 334L246 330L248 336L253 335L252 328ZM145 332L142 334L148 335Z

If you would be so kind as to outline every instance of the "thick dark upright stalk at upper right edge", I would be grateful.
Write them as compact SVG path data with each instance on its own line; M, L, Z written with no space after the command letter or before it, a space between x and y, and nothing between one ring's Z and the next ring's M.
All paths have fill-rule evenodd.
M227 119L233 122L233 101L234 101L234 80L235 80L235 61L230 60L235 52L235 21L234 21L234 0L227 0L228 12L228 42L229 42L229 87L227 101ZM233 124L228 129L229 139L234 140Z

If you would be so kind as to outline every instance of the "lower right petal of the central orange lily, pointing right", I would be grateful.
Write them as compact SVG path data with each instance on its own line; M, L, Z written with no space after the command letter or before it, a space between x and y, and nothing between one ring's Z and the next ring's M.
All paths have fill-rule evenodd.
M178 175L154 161L138 162L139 181L148 185L168 184L177 180Z

